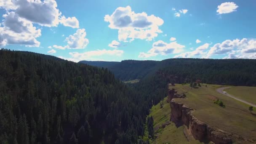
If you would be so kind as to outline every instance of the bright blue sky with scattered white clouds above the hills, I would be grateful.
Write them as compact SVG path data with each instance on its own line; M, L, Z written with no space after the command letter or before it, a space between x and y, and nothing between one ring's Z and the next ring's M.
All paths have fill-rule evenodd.
M0 0L0 47L69 61L256 59L255 0Z

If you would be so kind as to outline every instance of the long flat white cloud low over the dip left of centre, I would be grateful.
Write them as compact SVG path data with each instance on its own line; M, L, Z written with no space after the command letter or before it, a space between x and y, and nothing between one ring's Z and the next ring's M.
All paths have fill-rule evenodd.
M61 59L67 59L69 61L82 61L82 60L102 60L102 56L122 56L123 55L123 51L122 50L96 50L96 51L87 51L85 53L78 53L78 52L71 52L69 53L69 55L71 56L71 58L65 58L62 56L59 56L59 58Z

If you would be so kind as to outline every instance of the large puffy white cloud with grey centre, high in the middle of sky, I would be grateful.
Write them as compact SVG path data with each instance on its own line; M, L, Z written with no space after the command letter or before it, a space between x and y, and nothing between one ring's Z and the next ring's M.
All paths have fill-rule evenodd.
M163 19L147 13L135 13L130 6L118 7L104 21L109 22L109 28L118 29L118 40L131 42L134 39L152 40L162 31L158 28L163 25Z

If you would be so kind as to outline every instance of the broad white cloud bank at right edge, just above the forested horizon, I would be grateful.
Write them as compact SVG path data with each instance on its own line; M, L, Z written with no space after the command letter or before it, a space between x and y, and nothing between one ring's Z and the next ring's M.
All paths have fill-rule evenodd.
M218 54L227 54L228 58L249 58L252 59L256 54L256 40L243 38L241 40L225 40L211 47L207 57ZM227 57L226 57L227 58Z

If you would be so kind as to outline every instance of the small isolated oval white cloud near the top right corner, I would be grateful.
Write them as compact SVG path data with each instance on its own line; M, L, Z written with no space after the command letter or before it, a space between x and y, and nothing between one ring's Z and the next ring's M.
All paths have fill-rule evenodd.
M234 2L221 3L221 5L218 5L217 13L232 13L233 11L236 11L237 8L238 5L236 5Z

